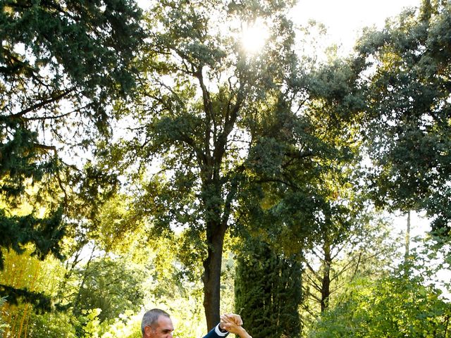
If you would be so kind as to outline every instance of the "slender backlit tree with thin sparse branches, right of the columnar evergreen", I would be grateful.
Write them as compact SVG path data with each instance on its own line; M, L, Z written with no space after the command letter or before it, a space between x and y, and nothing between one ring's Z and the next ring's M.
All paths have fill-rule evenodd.
M346 301L354 280L376 279L390 267L395 248L386 220L376 213L359 213L348 227L329 224L323 228L323 237L305 250L304 322L313 323L328 308Z

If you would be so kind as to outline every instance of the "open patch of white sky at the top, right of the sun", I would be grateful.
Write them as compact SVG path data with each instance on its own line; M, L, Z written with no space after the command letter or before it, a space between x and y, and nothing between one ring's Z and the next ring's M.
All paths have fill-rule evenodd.
M298 0L293 20L304 25L315 20L326 25L330 42L349 51L364 27L383 27L386 18L398 15L406 7L418 7L421 0Z

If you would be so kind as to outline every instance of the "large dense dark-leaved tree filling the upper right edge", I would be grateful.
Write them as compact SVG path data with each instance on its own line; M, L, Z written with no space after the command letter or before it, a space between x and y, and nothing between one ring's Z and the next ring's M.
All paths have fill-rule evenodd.
M392 211L426 211L443 234L451 215L450 15L446 1L425 0L356 47L366 63L370 194Z

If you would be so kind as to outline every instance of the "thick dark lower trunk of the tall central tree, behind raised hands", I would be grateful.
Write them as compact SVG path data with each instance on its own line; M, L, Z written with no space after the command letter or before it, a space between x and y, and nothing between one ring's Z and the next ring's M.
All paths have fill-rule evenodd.
M221 303L221 264L226 225L210 223L207 225L206 242L208 254L204 261L204 310L206 327L211 330L219 323Z

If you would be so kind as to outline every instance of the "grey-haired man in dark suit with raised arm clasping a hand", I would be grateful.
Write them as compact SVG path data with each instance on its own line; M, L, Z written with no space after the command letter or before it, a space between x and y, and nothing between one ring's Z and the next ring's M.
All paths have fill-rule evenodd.
M240 315L222 315L221 323L216 325L213 330L206 334L204 338L221 338L228 335L228 327L233 327L233 333L240 332L237 327L242 325ZM141 322L141 331L143 338L172 338L174 330L171 317L168 313L159 308L144 313ZM232 332L232 331L230 331ZM237 333L238 334L238 333ZM241 337L241 335L240 335ZM249 338L243 336L241 338Z

